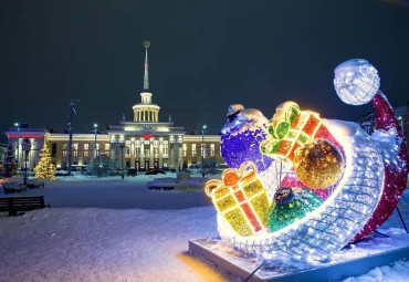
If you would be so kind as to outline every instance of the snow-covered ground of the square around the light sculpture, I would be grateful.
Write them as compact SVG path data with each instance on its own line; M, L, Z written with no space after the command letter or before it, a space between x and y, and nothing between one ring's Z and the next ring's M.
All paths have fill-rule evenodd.
M218 236L203 190L149 191L156 177L62 178L22 194L52 208L0 216L0 281L229 281L186 254L188 239ZM409 219L408 190L399 207ZM382 228L401 228L398 216ZM399 261L345 281L408 278Z

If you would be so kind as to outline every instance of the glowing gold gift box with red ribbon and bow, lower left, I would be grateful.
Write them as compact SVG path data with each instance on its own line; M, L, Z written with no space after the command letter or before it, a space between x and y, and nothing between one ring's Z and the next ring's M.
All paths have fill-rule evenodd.
M219 215L241 236L251 236L268 224L270 201L256 176L256 167L245 161L240 169L226 169L222 180L209 180L204 190Z

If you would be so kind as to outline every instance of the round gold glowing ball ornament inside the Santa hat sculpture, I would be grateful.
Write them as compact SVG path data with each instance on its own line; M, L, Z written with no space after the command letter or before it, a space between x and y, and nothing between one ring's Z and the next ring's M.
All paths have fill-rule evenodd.
M313 189L335 185L342 177L345 166L338 148L324 139L315 139L298 147L293 165L297 179Z

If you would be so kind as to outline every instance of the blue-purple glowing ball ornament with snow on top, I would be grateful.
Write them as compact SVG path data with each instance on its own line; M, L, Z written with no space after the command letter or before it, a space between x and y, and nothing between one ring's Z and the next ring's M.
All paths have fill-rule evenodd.
M259 145L266 137L269 119L254 108L233 104L221 130L221 156L229 167L240 168L244 161L255 164L258 171L269 169L273 159L261 154Z

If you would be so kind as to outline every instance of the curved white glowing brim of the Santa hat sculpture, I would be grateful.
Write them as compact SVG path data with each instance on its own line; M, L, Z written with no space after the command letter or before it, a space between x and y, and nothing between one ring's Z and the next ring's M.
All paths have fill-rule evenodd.
M224 242L250 253L282 252L297 259L323 260L361 230L382 192L381 156L357 124L324 122L345 152L344 174L334 192L304 218L270 233L241 237L218 217ZM367 164L365 169L363 164Z

